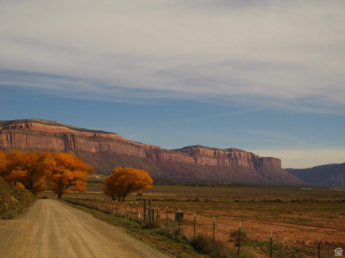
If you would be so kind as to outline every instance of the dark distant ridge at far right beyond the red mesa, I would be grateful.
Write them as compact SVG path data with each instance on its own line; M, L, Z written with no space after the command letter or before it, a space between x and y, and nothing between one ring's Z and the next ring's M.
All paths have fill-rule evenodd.
M345 163L314 166L307 169L285 169L309 184L345 186Z

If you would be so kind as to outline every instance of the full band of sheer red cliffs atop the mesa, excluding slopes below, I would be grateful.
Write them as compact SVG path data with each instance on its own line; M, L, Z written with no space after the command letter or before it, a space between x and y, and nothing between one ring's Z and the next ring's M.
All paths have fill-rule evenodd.
M279 159L260 158L244 150L199 145L165 150L158 146L130 141L115 133L81 129L38 119L0 121L0 148L115 152L147 158L155 163L174 161L228 168L281 168Z

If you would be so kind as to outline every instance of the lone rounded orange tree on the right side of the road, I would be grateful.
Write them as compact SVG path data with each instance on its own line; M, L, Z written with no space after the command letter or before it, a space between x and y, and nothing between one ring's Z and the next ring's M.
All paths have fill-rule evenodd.
M106 176L104 180L103 193L112 197L112 200L125 200L127 194L140 192L152 187L152 178L145 170L135 168L117 167L112 170L112 174Z

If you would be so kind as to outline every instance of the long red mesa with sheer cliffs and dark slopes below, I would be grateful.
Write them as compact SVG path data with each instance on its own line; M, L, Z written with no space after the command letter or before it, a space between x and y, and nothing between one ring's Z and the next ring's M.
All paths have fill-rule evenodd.
M133 166L147 170L156 182L303 183L283 170L279 159L240 149L195 145L166 150L116 133L39 119L0 121L0 149L69 151L98 173L109 174L115 166Z

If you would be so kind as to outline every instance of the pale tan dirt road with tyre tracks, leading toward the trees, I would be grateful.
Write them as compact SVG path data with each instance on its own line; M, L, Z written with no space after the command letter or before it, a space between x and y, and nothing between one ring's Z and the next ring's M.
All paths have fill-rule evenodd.
M0 257L168 257L121 229L56 200L38 200L21 217L0 221Z

